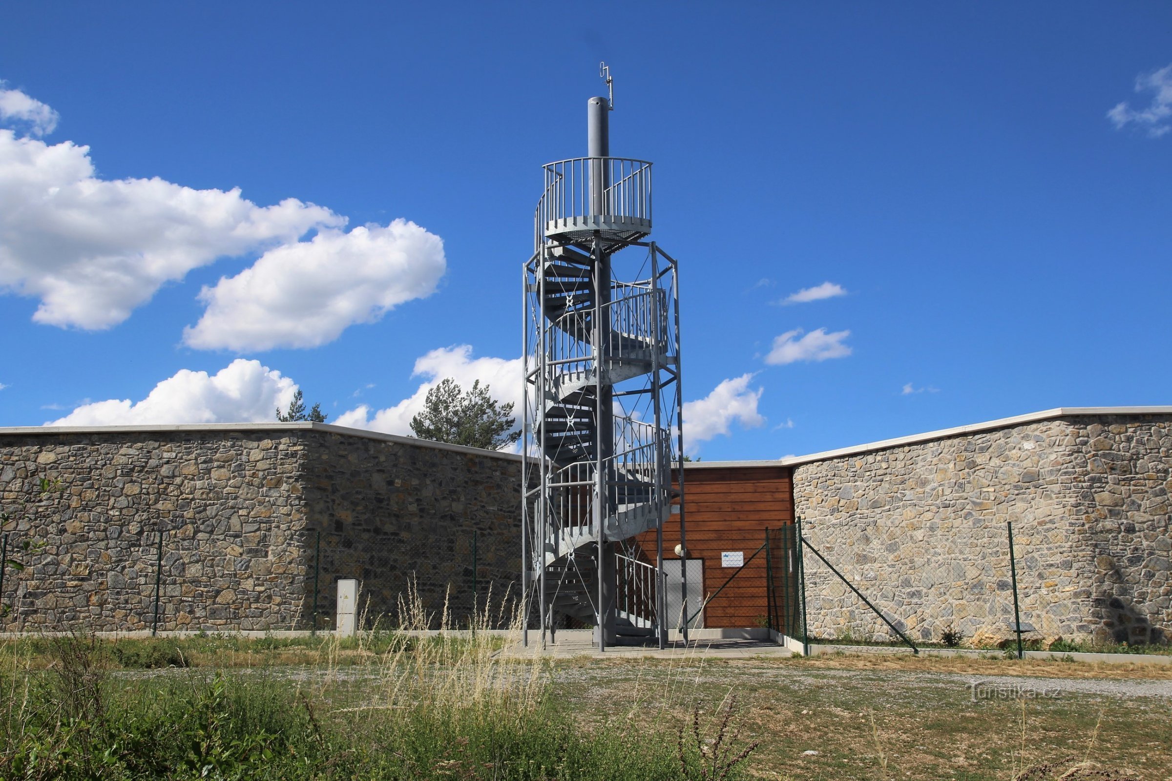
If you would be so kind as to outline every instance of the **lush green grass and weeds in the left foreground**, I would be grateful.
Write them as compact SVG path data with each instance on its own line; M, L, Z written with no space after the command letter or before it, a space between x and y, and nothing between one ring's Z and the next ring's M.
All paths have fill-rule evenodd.
M9 710L6 779L680 777L662 741L580 733L547 700L332 710L328 690L239 672L107 679L84 698L63 697L54 671L16 684L39 705Z

